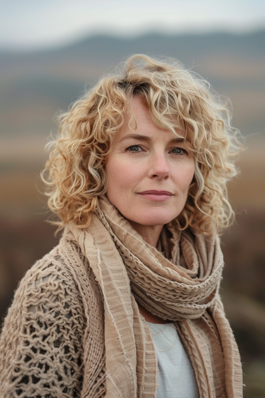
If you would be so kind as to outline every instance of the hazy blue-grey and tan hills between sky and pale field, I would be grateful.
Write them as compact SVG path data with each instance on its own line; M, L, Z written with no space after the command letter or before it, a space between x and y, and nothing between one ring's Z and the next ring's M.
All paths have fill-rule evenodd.
M129 55L174 57L232 99L243 133L264 132L265 30L248 34L98 35L52 50L0 50L0 131L44 135L51 118Z

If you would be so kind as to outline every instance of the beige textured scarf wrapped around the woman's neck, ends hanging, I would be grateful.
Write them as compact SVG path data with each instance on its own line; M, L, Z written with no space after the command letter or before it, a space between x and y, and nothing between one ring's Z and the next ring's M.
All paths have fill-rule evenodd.
M218 238L168 226L159 242L164 257L106 198L99 202L89 228L69 223L65 232L89 260L104 298L106 397L156 396L155 348L137 302L176 321L201 398L242 397L240 356L218 294Z

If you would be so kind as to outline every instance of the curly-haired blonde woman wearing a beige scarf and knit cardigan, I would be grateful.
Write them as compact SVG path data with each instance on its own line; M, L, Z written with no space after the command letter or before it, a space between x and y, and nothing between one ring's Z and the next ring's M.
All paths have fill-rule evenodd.
M177 62L139 55L59 131L43 178L64 232L8 311L2 396L242 397L218 293L236 175L226 107Z

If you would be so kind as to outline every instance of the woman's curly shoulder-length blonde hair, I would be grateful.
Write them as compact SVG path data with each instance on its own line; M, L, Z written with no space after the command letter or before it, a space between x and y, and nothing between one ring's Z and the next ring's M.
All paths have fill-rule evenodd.
M58 230L69 220L89 226L99 195L106 193L104 165L112 139L133 96L143 97L156 125L174 133L181 129L191 142L195 174L178 228L220 233L234 218L226 183L237 174L240 148L229 108L208 82L178 61L145 55L130 57L58 118L59 136L41 175L48 206L60 218L52 223Z

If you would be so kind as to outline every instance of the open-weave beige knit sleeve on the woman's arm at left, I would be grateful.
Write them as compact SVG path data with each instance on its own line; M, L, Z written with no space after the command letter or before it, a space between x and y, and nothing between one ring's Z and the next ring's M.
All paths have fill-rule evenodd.
M26 273L0 338L0 396L79 397L84 315L79 292L59 256Z

